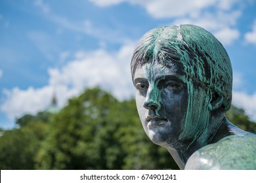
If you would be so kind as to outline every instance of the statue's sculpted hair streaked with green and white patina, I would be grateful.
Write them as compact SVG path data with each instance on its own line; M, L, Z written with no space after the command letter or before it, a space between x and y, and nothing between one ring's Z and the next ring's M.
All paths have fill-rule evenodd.
M186 73L188 92L194 81L223 98L221 108L229 110L232 99L232 66L226 50L211 33L196 25L157 27L142 36L131 59L131 73L145 63L165 67L175 63ZM192 99L192 98L191 98Z

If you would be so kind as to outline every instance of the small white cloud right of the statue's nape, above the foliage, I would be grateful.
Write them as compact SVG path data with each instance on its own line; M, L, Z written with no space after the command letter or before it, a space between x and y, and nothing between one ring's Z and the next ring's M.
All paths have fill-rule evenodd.
M232 103L245 110L245 113L256 122L256 93L248 95L244 92L233 92Z

